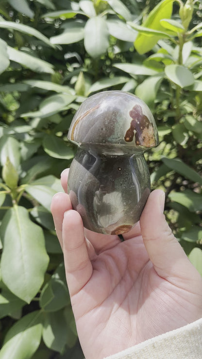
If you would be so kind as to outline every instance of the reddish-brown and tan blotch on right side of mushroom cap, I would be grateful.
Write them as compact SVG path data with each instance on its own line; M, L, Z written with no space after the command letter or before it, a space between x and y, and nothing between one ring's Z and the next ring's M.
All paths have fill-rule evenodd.
M132 121L130 128L126 131L124 140L132 142L135 135L135 144L137 146L155 146L153 125L148 117L142 113L141 106L135 105L129 114L132 117Z

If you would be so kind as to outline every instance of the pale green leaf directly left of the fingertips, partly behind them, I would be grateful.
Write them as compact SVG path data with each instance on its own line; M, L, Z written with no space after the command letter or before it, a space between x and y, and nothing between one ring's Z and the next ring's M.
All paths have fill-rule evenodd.
M59 179L50 175L31 182L25 187L25 191L50 211L52 197L62 191L62 186Z

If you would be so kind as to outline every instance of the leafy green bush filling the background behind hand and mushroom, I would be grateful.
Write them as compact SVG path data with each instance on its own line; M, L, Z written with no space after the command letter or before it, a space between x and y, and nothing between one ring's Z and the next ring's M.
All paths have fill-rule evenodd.
M81 359L50 214L69 124L106 89L150 106L152 189L202 274L202 4L1 0L0 14L0 359Z

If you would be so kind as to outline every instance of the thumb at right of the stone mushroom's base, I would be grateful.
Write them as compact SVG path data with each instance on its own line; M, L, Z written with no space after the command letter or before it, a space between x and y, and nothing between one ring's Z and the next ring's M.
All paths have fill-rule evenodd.
M193 266L174 237L163 214L165 194L153 191L140 217L144 245L155 271L169 281L193 276Z

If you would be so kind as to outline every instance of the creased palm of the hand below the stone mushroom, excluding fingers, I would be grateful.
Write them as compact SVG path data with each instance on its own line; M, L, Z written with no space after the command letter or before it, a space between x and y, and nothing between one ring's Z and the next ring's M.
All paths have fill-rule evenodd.
M158 276L141 236L104 250L92 266L92 277L72 297L80 342L90 349L85 350L86 358L103 358L109 346L115 353L171 330L176 323L187 324L184 290L180 293Z

